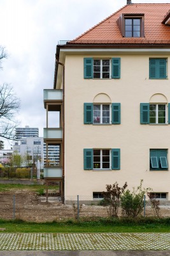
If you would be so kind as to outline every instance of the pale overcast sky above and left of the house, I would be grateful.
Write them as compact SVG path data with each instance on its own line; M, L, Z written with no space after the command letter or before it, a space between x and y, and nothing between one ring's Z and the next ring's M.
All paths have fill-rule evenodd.
M76 38L126 3L127 0L0 0L0 45L8 51L0 84L10 83L21 100L20 127L38 127L39 136L43 136L43 89L53 88L58 41Z

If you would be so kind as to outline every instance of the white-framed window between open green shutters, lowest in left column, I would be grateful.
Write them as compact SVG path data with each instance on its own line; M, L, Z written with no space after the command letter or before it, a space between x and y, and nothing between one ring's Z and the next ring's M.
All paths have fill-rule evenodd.
M93 168L94 169L111 169L109 149L93 150Z

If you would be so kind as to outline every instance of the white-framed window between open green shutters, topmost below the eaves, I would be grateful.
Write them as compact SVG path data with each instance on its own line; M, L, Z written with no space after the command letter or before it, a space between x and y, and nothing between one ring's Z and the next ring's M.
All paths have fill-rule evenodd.
M110 60L94 60L94 78L110 78Z

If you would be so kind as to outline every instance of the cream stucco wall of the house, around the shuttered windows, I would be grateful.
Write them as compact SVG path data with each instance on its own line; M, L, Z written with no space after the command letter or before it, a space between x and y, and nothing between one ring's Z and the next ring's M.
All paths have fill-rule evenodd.
M156 193L167 193L169 200L170 173L150 170L150 149L167 149L168 124L140 124L140 103L170 102L170 67L167 79L149 79L149 59L166 58L169 49L161 51L93 52L62 51L65 65L65 196L89 196L104 191L106 184L127 181L128 188L143 185ZM120 79L84 79L83 58L120 58ZM83 104L121 104L121 124L83 124ZM166 111L167 115L167 111ZM120 148L120 170L84 170L83 148Z

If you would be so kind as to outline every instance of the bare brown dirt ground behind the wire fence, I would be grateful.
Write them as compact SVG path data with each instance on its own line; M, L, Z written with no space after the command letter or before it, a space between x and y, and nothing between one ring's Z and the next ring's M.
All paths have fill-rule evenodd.
M15 195L15 217L26 221L53 221L73 218L73 205L62 202L45 202L45 198L27 189L0 193L0 218L13 218L13 195ZM161 216L170 216L170 206L161 206ZM108 216L106 208L97 205L82 205L80 216ZM151 207L146 207L146 216L155 216Z

